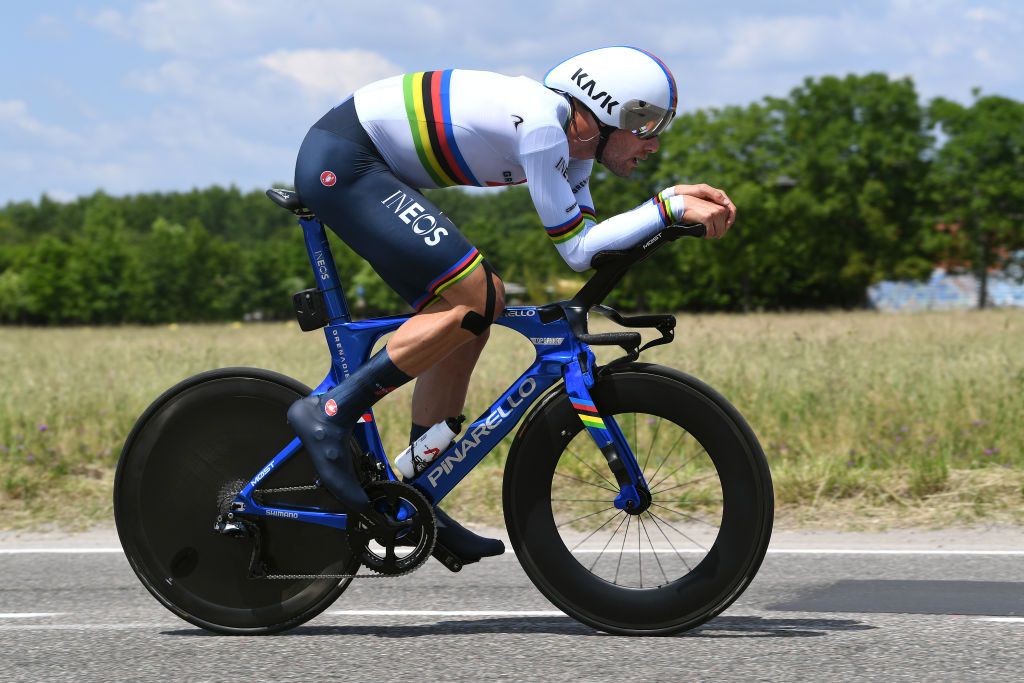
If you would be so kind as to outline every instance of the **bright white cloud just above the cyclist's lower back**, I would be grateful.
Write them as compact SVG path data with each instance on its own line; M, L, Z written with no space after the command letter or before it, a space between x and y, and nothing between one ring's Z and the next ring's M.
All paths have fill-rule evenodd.
M317 98L340 99L367 83L402 73L400 67L369 50L278 50L258 61Z

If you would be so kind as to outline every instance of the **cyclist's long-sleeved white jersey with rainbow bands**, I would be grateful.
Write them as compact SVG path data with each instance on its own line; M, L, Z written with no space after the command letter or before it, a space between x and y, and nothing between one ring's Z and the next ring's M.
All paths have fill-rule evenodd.
M597 222L593 160L569 157L564 96L525 77L446 70L385 79L354 93L355 111L391 171L415 187L528 181L559 254L578 271L605 249L625 249L682 217L665 190Z

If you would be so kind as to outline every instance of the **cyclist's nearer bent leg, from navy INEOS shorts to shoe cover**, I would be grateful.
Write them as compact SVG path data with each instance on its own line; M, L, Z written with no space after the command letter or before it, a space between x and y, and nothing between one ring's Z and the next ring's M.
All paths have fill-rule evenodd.
M328 489L348 507L365 509L368 500L351 455L343 452L357 416L485 330L504 304L500 281L496 285L485 276L488 266L478 267L479 252L432 203L390 172L354 108L347 108L348 119L345 109L342 104L332 115L343 126L314 127L303 141L296 164L299 195L414 308L427 308L437 298L451 305L414 316L345 382L289 411Z

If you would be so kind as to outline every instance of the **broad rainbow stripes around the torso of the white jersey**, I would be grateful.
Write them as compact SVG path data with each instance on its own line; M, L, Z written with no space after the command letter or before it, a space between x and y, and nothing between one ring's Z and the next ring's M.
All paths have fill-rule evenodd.
M455 141L451 85L451 69L402 77L413 144L424 170L438 186L479 185Z

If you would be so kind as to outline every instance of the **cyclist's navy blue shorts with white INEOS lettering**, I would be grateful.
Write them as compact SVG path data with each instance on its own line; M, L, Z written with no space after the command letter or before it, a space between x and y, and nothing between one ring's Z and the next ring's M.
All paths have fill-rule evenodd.
M351 98L309 129L295 189L417 311L483 260L447 216L391 172Z

